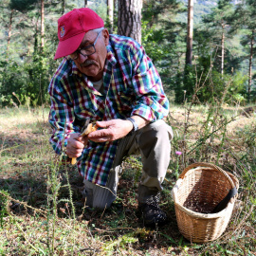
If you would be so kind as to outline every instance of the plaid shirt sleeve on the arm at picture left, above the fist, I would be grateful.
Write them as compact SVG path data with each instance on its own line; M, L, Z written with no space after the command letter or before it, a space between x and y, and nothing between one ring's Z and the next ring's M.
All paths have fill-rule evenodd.
M49 112L49 123L52 128L52 136L49 139L54 151L61 154L67 144L67 138L73 133L73 108L69 101L64 86L58 80L50 82L48 93L50 95L51 107Z

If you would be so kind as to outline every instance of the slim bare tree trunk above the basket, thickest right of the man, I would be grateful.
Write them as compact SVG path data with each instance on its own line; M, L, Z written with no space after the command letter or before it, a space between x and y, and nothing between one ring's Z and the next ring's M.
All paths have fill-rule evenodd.
M186 64L191 64L191 65L192 65L192 27L193 27L193 0L189 0Z

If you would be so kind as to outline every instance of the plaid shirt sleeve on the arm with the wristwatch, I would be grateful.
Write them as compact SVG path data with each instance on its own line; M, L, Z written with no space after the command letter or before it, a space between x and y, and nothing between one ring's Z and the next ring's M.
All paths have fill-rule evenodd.
M163 119L168 115L169 101L164 93L159 74L142 46L134 55L132 66L132 84L137 98L132 115L138 115L150 121Z

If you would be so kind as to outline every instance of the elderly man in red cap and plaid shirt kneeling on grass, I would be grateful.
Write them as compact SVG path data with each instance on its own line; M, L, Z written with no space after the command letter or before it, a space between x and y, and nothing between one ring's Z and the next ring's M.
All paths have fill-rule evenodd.
M135 40L109 35L91 9L64 14L58 38L55 59L64 60L49 85L54 150L77 158L86 205L100 209L117 196L123 158L139 153L143 170L137 200L144 224L164 224L159 192L173 132L162 120L169 101L155 66ZM86 120L99 129L82 137Z

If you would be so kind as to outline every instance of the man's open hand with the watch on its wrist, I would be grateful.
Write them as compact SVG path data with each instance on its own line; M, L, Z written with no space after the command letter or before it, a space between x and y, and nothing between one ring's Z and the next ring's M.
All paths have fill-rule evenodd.
M129 120L112 119L107 121L97 121L97 126L103 128L88 135L88 139L95 142L113 141L125 137L133 129L133 124Z

